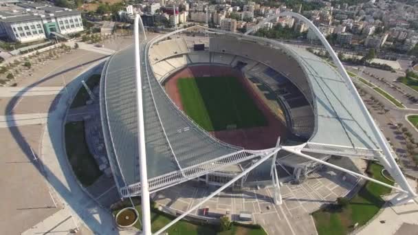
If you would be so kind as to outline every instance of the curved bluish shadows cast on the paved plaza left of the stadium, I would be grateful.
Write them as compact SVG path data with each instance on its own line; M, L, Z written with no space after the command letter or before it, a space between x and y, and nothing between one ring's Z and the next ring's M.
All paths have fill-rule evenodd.
M80 65L76 65L74 67L70 67L68 69L64 69L63 71L59 71L58 73L52 74L50 76L47 76L39 81L36 81L34 83L32 83L31 85L29 85L28 87L25 87L25 89L23 89L21 92L19 92L19 94L17 94L17 96L14 96L10 99L10 101L8 102L8 104L5 107L5 112L7 113L8 111L12 110L12 108L17 104L17 102L19 102L20 96L25 93L28 92L30 90L31 87L36 87L38 85L41 85L43 82L46 82L47 80L50 80L52 78L55 78L56 76L59 76L61 74L65 74L67 71L72 71L74 69L78 69L80 67L83 67L85 65L90 65L90 67L88 67L87 69L85 69L85 71L81 71L80 74L78 74L78 76L76 76L76 78L74 80L72 80L72 82L69 82L66 87L63 87L63 89L61 89L61 92L65 91L65 89L69 89L71 87L80 87L80 85L78 85L77 83L80 82L80 78L83 78L83 74L85 74L87 71L91 70L91 69L98 69L98 67L100 67L100 65L102 63L98 63L100 60L104 60L105 58L107 58L109 56L102 56L100 58L96 58L94 60L90 60L87 63L82 63ZM97 65L95 65L95 63L98 63ZM70 89L70 91L73 91L74 89ZM78 90L78 89L77 89ZM61 93L60 92L60 93ZM45 126L45 128L48 129L53 129L54 132L50 133L50 138L51 138L51 142L52 142L52 148L54 148L54 152L57 153L57 155L61 155L61 157L57 157L58 159L58 164L61 167L61 170L63 170L63 175L65 177L65 179L69 179L71 177L74 177L74 174L72 173L72 169L71 166L68 165L67 161L65 161L66 157L66 153L65 153L65 149L63 149L63 118L65 117L66 111L67 111L67 102L70 98L70 96L61 96L60 93L58 93L54 100L52 100L51 104L57 104L57 105L65 105L65 109L63 111L63 113L52 113L50 115L48 115L47 117L47 123ZM64 98L64 99L62 99ZM50 113L50 111L52 111L53 106L50 104L50 107L48 107L48 113ZM10 114L12 115L12 113ZM58 119L58 122L57 122ZM14 124L16 124L16 122L14 122L13 120L10 121L11 125L8 127L8 130L10 131L12 137L14 138L15 142L17 142L17 144L19 145L19 147L21 148L21 150L23 151L23 153L26 155L26 157L28 157L28 162L32 163L34 165L34 167L36 168L36 170L38 170L41 175L45 178L46 181L48 181L48 183L50 183L50 185L52 185L52 187L54 188L54 190L61 195L61 197L63 197L64 199L66 197L75 197L76 199L80 199L83 200L86 199L87 197L87 201L90 199L89 196L83 194L83 195L77 195L74 192L83 192L82 189L80 188L80 186L78 186L78 183L71 183L72 181L74 181L74 178L69 179L68 182L68 186L66 186L63 182L60 181L60 179L58 179L56 177L56 175L53 174L52 170L50 168L48 168L47 166L45 166L44 164L44 159L40 158L40 157L36 157L36 161L34 160L32 156L32 150L30 148L30 144L28 142L25 141L25 137L23 137L23 134L19 128L18 125L14 126ZM59 126L60 128L57 129L56 126ZM35 153L36 154L36 153ZM38 154L36 154L38 155ZM99 214L99 218L95 218L93 215L94 214L98 214L98 210L97 207L98 205L96 205L95 203L85 203L85 201L83 201L85 203L85 208L83 208L83 210L80 210L80 208L76 205L77 203L73 200L73 201L67 201L69 204L69 207L72 208L72 211L75 212L81 219L83 219L83 221L85 221L85 223L87 223L87 226L93 231L93 232L97 232L97 230L100 230L100 227L102 226L102 224L100 224L101 218L100 216L102 216L102 214ZM80 203L83 203L82 201L80 201ZM67 206L65 205L65 206ZM85 213L86 211L88 211L89 213ZM110 215L109 215L110 216Z

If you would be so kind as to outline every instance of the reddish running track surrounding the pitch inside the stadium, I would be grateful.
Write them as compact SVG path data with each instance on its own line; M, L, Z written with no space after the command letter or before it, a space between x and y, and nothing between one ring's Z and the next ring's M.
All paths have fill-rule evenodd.
M241 71L232 67L221 65L195 65L185 67L168 77L165 83L165 89L173 102L183 110L181 96L177 87L179 78L197 78L197 77L221 77L234 76L239 78L241 84L254 100L254 103L261 110L267 120L267 126L253 128L239 128L236 130L212 131L210 134L223 142L234 146L241 146L246 149L264 149L276 146L277 138L280 136L282 141L287 137L288 128L283 124L271 109L259 98L259 95L253 90L248 80L244 78Z

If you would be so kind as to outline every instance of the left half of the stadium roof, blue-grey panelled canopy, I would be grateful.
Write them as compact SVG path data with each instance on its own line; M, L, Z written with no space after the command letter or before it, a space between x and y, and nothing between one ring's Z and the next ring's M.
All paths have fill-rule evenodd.
M219 141L182 113L151 71L147 45L141 45L141 79L151 191L260 156L260 151ZM122 197L140 193L140 161L135 157L138 135L133 57L133 47L114 54L104 66L101 80L104 139Z

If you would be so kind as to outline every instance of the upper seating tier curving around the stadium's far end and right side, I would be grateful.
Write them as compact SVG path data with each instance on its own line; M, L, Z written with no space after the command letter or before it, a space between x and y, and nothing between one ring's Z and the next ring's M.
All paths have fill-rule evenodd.
M292 132L309 137L314 132L314 113L310 106L311 91L303 70L296 60L281 49L236 38L210 38L210 51L189 51L186 41L171 39L151 48L155 58L151 62L155 77L162 82L175 69L190 65L183 71L195 77L210 76L212 69L195 64L216 63L230 65L243 72L248 78L261 80L282 100L292 122ZM271 51L274 50L274 53ZM180 52L180 53L178 53ZM150 58L152 60L152 58ZM228 69L227 69L228 70ZM180 141L180 140L179 140ZM188 148L184 148L187 152ZM202 146L204 152L204 146ZM193 153L185 153L192 161Z

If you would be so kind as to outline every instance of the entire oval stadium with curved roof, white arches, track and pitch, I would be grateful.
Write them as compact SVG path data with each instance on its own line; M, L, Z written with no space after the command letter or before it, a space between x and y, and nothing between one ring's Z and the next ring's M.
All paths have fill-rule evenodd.
M377 181L399 192L393 203L415 197L325 38L303 16L284 14L309 23L336 67L301 47L201 26L149 39L136 18L134 45L107 60L100 80L121 197L190 180L219 190L269 181L281 203L279 181L322 165L373 180L329 164L331 155L380 161L399 185Z

